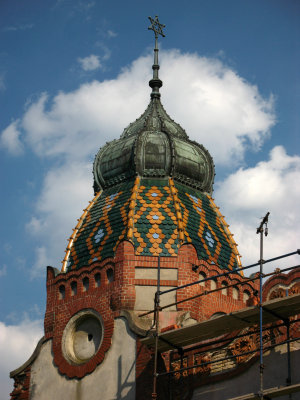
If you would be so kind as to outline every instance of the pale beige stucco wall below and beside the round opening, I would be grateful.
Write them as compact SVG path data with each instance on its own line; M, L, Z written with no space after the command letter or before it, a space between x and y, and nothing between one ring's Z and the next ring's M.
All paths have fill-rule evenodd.
M78 379L62 376L46 342L31 368L31 400L135 400L135 336L124 318L115 320L112 345L93 373Z

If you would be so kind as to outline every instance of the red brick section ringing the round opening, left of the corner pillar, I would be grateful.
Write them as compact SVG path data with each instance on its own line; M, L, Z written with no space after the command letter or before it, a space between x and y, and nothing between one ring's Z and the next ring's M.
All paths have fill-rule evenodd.
M69 378L82 378L92 372L104 359L105 352L111 345L114 327L114 313L111 309L110 299L115 291L116 282L109 282L106 271L113 268L109 261L103 266L94 265L88 270L69 272L54 277L53 269L48 267L48 297L45 316L45 336L53 338L54 363L62 374ZM95 276L100 274L101 284L97 287ZM83 279L89 278L89 288L83 286ZM71 285L77 285L77 293L72 292ZM65 296L61 298L60 288L64 286ZM88 362L81 365L71 365L62 353L62 336L69 320L79 311L92 309L97 311L103 321L104 336L97 354Z

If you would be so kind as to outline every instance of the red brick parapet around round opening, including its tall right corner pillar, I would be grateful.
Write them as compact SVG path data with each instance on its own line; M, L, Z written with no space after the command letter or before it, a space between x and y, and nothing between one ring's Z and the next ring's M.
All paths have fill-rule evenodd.
M114 318L120 309L133 309L135 303L133 246L128 242L119 245L114 259L55 276L54 269L47 271L47 308L44 321L45 337L53 338L54 362L59 371L69 378L82 378L100 364L111 345ZM109 281L108 270L113 280ZM99 280L100 276L100 280ZM88 289L84 279L88 279ZM72 286L76 286L76 291ZM97 354L81 365L70 364L62 352L62 336L69 320L79 311L92 309L103 320L104 338Z

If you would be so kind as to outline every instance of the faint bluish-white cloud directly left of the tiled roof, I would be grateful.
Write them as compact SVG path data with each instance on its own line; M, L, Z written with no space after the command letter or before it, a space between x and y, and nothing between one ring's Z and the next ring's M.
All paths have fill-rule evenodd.
M47 265L61 267L67 239L92 196L89 163L68 163L48 172L36 205L38 218L33 216L27 225L41 243L35 249L32 277L44 275Z

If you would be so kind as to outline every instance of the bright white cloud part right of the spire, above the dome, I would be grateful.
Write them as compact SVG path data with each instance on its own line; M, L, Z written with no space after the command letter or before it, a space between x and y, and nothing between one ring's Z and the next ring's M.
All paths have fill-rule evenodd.
M236 165L248 143L257 150L269 136L273 97L264 99L221 61L173 51L163 58L161 70L168 112L216 163Z

